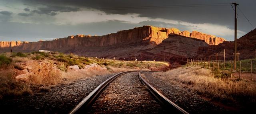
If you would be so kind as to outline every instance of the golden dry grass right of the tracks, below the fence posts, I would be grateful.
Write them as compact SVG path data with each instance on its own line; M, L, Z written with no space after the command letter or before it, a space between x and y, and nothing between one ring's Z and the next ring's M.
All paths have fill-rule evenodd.
M233 106L256 104L255 81L215 78L211 70L201 67L180 67L167 72L154 73L154 76L224 104Z

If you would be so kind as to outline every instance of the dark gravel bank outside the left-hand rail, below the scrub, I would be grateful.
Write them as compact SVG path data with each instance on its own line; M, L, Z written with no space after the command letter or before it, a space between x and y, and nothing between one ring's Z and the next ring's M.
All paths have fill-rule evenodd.
M0 102L2 114L68 114L98 85L111 75L87 78L70 85L57 86L49 92L37 93Z

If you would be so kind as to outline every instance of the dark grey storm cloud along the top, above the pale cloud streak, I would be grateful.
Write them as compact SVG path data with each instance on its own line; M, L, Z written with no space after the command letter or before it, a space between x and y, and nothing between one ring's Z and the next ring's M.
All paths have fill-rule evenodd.
M23 1L29 4L33 0ZM232 24L232 21L230 20L233 19L234 15L234 11L232 10L230 1L232 0L61 0L61 2L60 0L43 0L32 3L40 3L48 6L47 8L41 8L38 10L63 9L62 7L55 8L55 6L57 5L70 6L72 8L80 9L95 8L98 10L102 10L107 14L136 13L140 14L140 17L164 18L169 20L180 20L196 24L218 23L221 25L228 26ZM194 6L188 6L191 4L194 4ZM247 7L248 5L250 4L247 4L243 7Z

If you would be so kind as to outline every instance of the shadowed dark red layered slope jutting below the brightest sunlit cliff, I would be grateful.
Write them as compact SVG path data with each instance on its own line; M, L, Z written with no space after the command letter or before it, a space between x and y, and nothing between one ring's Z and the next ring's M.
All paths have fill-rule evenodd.
M167 39L164 39L154 49L142 52L139 57L145 60L151 59L183 64L187 61L187 58L197 57L199 47L208 46L204 40L170 34Z

